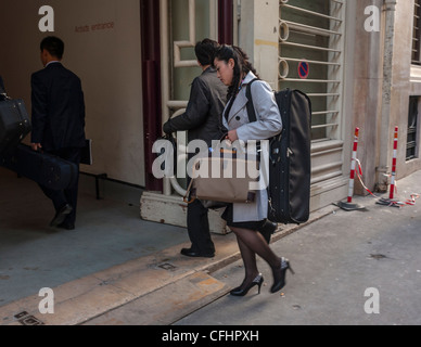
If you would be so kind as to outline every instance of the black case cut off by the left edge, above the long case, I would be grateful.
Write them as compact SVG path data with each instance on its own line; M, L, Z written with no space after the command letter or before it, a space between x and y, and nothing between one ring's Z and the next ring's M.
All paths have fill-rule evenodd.
M22 99L12 100L1 90L0 154L14 149L31 130L28 113Z

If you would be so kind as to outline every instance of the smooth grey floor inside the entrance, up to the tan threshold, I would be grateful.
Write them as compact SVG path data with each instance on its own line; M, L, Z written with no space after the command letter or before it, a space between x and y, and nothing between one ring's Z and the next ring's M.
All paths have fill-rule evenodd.
M85 184L85 185L84 185ZM184 228L140 219L141 190L81 184L77 229L49 227L51 202L36 183L0 168L0 306L189 241Z

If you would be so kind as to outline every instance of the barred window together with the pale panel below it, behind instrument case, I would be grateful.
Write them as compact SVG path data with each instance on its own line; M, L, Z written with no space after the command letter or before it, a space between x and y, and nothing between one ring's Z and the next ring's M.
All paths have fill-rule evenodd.
M341 0L280 0L279 3L279 89L299 89L311 100L312 183L342 177L346 3Z

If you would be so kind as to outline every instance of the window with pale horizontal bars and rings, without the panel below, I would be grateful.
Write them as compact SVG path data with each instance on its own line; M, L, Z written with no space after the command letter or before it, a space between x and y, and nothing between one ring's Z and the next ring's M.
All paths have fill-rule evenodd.
M340 126L343 1L280 1L280 88L306 92L314 106L312 139ZM299 74L306 62L309 74Z

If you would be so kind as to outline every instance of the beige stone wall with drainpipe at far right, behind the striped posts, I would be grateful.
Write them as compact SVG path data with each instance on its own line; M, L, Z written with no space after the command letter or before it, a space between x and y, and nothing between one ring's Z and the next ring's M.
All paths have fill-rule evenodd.
M377 5L381 10L381 31L367 33L363 10ZM355 27L354 126L359 126L358 157L363 168L365 183L373 189L387 189L383 172L392 170L394 128L399 127L397 178L419 169L421 160L406 160L409 97L421 95L420 68L411 67L413 0L397 1L388 7L394 16L393 29L387 27L387 11L383 0L358 0ZM394 10L393 10L394 9ZM390 37L387 39L387 37ZM392 63L387 64L387 44L392 44ZM419 131L421 127L419 125ZM421 152L420 152L421 153ZM357 193L367 193L361 187Z

